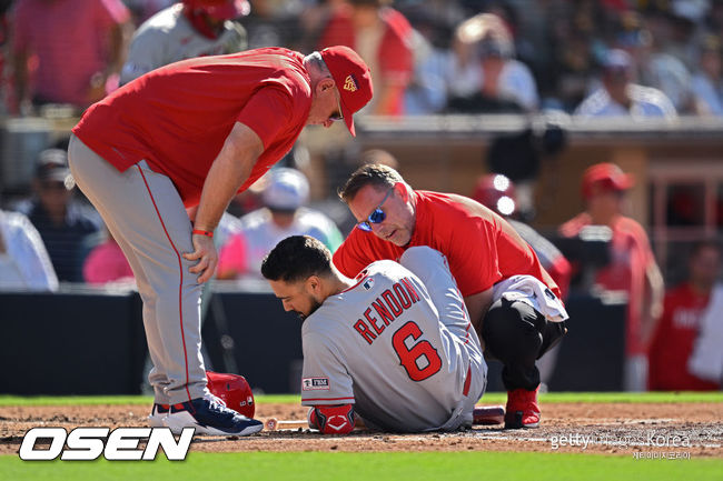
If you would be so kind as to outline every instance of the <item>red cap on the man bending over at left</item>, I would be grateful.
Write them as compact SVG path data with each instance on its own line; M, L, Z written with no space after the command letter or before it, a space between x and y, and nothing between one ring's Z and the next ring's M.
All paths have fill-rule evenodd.
M361 57L348 47L329 47L320 53L339 91L346 127L351 136L356 136L353 114L366 106L374 94L369 68Z

